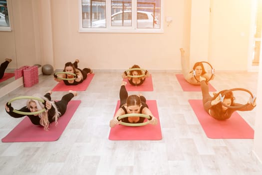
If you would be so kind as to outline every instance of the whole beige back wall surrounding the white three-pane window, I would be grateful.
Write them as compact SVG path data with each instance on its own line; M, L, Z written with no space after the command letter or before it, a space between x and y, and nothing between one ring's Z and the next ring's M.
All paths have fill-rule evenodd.
M163 21L164 33L157 34L79 33L78 0L9 2L12 31L0 31L7 43L0 47L0 57L16 56L17 66L50 63L62 68L65 61L79 58L80 67L94 69L138 63L179 70L183 47L191 64L208 56L216 70L248 67L251 0L165 0L164 19L172 16L173 22L168 26Z

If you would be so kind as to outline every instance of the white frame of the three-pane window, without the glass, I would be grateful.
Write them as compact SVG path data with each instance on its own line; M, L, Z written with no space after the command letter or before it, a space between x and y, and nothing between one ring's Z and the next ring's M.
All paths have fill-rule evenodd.
M106 28L84 28L83 18L82 18L82 0L78 0L79 4L79 32L95 32L95 33L163 33L164 32L164 12L163 12L163 2L161 0L160 5L160 28L137 28L136 22L136 10L137 10L137 0L132 0L132 26L111 26L111 0L106 0Z

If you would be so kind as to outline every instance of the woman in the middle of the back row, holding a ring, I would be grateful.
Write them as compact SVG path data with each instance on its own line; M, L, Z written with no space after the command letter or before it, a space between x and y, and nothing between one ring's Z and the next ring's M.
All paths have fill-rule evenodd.
M139 65L134 64L130 69L132 68L138 68L138 70L130 70L130 71L124 71L122 74L122 78L127 78L129 83L131 85L141 85L145 81L146 77L148 77L150 74L147 70L142 71L140 69ZM144 74L144 76L142 76ZM131 76L139 76L139 77L131 77Z

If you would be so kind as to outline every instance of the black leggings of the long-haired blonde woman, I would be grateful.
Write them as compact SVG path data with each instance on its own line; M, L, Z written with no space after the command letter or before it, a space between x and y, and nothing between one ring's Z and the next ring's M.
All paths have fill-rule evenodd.
M51 100L50 93L46 93L44 95L48 100ZM55 101L55 105L57 107L57 110L63 115L66 111L66 107L68 102L74 97L73 93L67 93L65 94L60 101Z

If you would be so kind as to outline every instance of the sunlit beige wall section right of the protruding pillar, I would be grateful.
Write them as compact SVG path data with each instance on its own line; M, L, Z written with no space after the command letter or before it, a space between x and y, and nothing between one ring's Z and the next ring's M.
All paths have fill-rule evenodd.
M215 69L247 70L252 0L212 0L209 61Z

